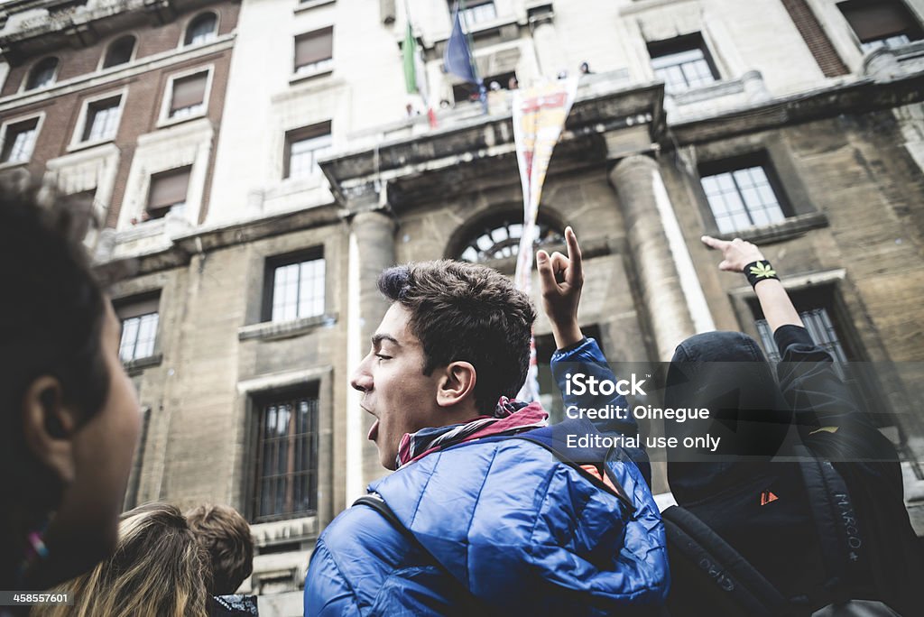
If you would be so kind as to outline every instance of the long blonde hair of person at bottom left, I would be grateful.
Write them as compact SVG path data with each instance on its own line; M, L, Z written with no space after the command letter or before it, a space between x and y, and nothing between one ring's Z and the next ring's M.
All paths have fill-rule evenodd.
M116 551L52 591L73 606L36 606L32 617L208 617L209 555L176 506L146 503L122 514Z

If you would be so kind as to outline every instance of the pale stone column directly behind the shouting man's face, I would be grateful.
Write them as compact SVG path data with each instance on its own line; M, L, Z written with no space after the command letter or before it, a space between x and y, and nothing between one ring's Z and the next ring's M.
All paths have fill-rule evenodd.
M379 274L395 265L395 220L382 210L355 214L350 221L349 277L347 284L348 333L347 370L349 375L369 352L370 339L388 310L389 303L379 293ZM349 377L347 375L347 379ZM361 394L347 396L346 410L346 505L363 494L366 485L383 476L375 444L366 439L372 426L371 415L359 408Z

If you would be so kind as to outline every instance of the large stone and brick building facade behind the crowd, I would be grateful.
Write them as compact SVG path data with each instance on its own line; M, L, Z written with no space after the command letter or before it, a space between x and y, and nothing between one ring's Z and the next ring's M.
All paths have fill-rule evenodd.
M86 44L77 14L26 37L18 14L48 3L17 3L0 30L4 157L9 127L34 115L45 124L31 158L9 166L86 190L67 185L77 164L67 157L84 152L67 150L81 102L128 88L128 114L131 92L149 89L131 126L86 149L116 157L98 163L116 170L105 198L96 194L110 227L98 257L138 266L114 291L148 410L127 505L209 500L247 515L261 613L300 614L314 539L383 473L348 387L386 309L375 275L444 257L512 272L522 195L505 87L573 75L582 62L591 72L541 206L544 246L570 224L585 249L581 325L614 361L669 359L712 329L760 339L747 284L718 272L699 236L760 244L814 333L842 359L875 363L874 380L856 381L888 412L882 429L902 449L924 534L920 0L469 0L480 74L500 86L488 114L442 70L451 6L441 0L174 2L156 27L157 9L126 5L119 19L147 25ZM217 37L177 48L206 8L220 12ZM408 9L436 127L404 90ZM128 30L176 64L80 77ZM53 48L57 90L21 91ZM170 76L206 64L205 115L162 127ZM176 181L158 174L182 166L186 207L141 220L151 178L166 177L170 194ZM541 318L541 356L549 333ZM669 489L663 468L655 484Z

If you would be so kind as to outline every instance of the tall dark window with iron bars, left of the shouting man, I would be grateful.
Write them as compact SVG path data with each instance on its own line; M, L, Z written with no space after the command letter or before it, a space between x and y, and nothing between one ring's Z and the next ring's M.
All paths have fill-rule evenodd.
M318 509L318 391L255 401L256 522Z

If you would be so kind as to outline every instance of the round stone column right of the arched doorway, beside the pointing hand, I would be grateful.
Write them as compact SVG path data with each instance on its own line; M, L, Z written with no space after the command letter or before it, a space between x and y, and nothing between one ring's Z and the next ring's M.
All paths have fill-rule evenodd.
M666 192L656 194L659 186L663 190L658 163L641 154L627 156L610 171L610 183L626 219L626 236L658 359L669 361L675 346L696 330L658 209L657 200L666 197Z

